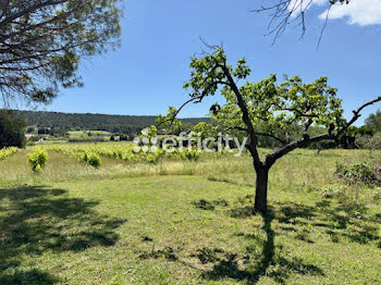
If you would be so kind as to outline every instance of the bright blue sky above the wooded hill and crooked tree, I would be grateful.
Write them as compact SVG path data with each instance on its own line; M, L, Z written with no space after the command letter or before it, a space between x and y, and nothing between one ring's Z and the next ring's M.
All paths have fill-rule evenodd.
M299 29L288 29L272 46L272 38L266 36L267 15L249 12L259 1L128 0L121 49L84 63L81 74L85 87L64 89L52 104L39 110L165 113L168 106L180 106L186 99L182 86L189 77L189 57L201 50L199 38L204 37L211 44L223 42L231 63L245 57L253 70L251 79L270 73L300 75L306 82L329 76L348 116L360 103L380 96L381 14L358 7L358 1L374 2L381 9L380 1L355 0L357 5L345 8L348 11L334 11L318 49L323 24L319 15L325 8L320 5L324 0L316 1L304 40L299 40ZM181 116L204 116L214 101L217 98L190 106ZM376 109L368 109L366 115Z

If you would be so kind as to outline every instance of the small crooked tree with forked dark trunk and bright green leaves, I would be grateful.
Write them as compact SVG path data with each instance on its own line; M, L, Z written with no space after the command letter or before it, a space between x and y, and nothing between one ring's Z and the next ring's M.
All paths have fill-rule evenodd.
M224 50L220 47L209 47L212 53L192 58L190 79L184 85L189 89L189 100L180 109L170 107L167 116L159 116L162 125L175 121L180 111L189 103L200 103L208 96L214 96L219 90L225 98L224 106L211 107L213 117L225 129L239 129L249 138L247 149L253 157L257 173L255 211L266 213L268 210L268 181L271 166L283 156L296 148L306 147L321 140L335 140L360 117L360 112L368 106L381 101L381 97L365 103L354 111L351 121L343 116L342 101L336 97L337 90L328 86L328 78L320 77L314 83L305 84L298 76L286 77L278 84L276 76L258 83L239 79L250 75L250 69L245 59L238 61L235 67L229 65ZM257 125L266 122L268 133L258 133ZM291 124L303 126L299 139L290 141L273 134L272 129L286 128ZM323 126L325 134L311 136L312 125ZM281 142L270 154L260 158L258 153L258 137L267 136Z

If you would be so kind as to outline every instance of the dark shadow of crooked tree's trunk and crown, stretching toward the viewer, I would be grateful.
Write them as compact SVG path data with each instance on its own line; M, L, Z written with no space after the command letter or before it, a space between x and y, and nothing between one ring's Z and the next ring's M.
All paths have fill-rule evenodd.
M244 208L246 212L246 207ZM236 213L237 211L233 211ZM253 211L251 211L253 214ZM241 216L241 215L239 215ZM257 247L247 247L245 255L228 252L222 249L202 248L197 250L196 255L201 263L211 263L212 269L202 273L207 280L234 278L246 281L247 284L256 284L260 277L268 276L280 284L286 284L288 275L298 274L319 274L323 275L321 269L314 264L307 264L300 259L287 260L275 253L274 236L272 221L274 213L272 210L263 215L262 230L266 233L265 240L254 234L245 235L246 238L257 239L262 249L257 251ZM271 268L271 270L270 270Z

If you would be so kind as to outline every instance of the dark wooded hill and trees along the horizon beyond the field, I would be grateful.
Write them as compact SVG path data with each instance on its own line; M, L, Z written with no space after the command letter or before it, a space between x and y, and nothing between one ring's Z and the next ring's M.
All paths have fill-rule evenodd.
M103 114L69 114L54 112L32 111L7 111L0 110L0 149L3 147L25 145L25 133L36 135L51 135L66 137L69 131L106 131L114 134L113 139L130 140L140 134L143 128L155 124L155 116L128 116L128 115L103 115ZM201 122L201 123L200 123ZM28 127L27 127L28 126ZM268 126L258 126L261 133L268 133ZM324 133L323 128L311 127L314 135ZM204 133L204 136L217 136L218 124L212 124L210 119L185 119L180 125L167 129L165 134L180 135L182 132ZM263 148L275 148L281 140L292 140L303 132L302 126L291 125L287 132L273 129L273 136L259 137L259 146ZM160 129L163 133L163 129ZM232 136L242 137L243 134L230 129ZM38 136L36 137L38 139ZM321 141L310 146L315 149L328 148L366 148L381 149L381 111L371 114L361 127L352 127L345 136L337 141Z

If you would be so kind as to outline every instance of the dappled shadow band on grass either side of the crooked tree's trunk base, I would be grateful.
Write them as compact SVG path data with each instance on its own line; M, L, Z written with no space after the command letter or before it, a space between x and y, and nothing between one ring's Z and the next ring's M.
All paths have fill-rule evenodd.
M206 201L208 202L208 201ZM253 215L254 198L251 195L242 197L226 214L235 219L247 219ZM296 226L324 228L333 241L339 238L348 238L358 244L372 241L381 243L378 234L381 214L371 215L369 209L355 202L322 199L314 206L295 202L273 202L278 224L283 231L297 233ZM305 241L314 243L298 234Z

